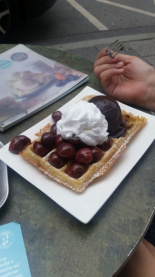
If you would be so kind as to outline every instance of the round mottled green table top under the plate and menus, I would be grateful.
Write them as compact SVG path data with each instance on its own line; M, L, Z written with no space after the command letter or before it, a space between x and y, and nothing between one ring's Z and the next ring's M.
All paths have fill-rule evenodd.
M0 53L14 45L0 45ZM93 62L41 46L28 47L89 75L90 81L32 117L0 133L6 144L76 96L86 85L103 92ZM149 112L149 111L147 111ZM0 225L21 225L32 277L111 277L126 262L148 229L154 213L155 144L88 224L76 218L8 168L9 195ZM123 170L123 168L122 168Z

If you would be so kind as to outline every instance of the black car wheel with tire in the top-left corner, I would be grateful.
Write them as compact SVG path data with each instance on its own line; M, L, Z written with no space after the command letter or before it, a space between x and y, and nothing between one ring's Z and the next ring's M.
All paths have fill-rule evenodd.
M0 40L7 41L7 36L19 22L19 10L16 0L0 1Z

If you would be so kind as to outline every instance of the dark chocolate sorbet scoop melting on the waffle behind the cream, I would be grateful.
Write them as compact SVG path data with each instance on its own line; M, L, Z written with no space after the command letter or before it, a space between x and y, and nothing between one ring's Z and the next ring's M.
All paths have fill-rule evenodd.
M88 102L94 103L99 108L108 122L110 137L119 138L125 136L125 123L122 120L122 112L117 101L109 96L99 95L91 98Z

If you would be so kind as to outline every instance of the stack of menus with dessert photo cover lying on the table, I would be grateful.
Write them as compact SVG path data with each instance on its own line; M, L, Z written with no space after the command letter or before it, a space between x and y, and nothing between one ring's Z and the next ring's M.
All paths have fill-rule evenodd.
M0 131L88 80L87 74L47 59L22 44L0 54Z

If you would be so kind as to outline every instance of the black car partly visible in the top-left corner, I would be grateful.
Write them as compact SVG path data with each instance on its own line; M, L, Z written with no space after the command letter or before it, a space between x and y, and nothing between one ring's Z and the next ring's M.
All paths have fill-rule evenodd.
M46 12L56 0L0 0L0 39L7 37L19 20Z

